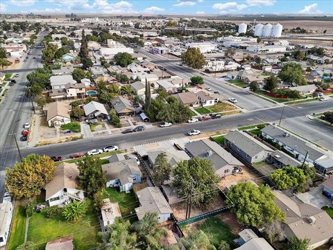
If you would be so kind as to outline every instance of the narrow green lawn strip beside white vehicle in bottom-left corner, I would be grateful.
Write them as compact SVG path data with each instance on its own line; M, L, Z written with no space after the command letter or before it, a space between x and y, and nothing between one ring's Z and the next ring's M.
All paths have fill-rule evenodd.
M17 201L12 218L12 229L7 245L8 250L15 250L20 244L24 243L24 233L26 231L26 213L24 208Z

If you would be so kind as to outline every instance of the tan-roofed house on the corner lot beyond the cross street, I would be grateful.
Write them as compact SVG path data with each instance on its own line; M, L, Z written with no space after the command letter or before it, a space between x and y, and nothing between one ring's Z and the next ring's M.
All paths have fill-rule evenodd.
M69 115L69 106L60 101L47 103L43 108L46 113L46 122L49 126L61 126L69 124L71 117Z

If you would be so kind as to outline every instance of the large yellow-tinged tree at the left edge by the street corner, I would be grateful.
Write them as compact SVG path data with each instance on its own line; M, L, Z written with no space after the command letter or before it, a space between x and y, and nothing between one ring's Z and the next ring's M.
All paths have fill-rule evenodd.
M25 199L40 194L46 183L53 179L55 168L49 156L31 153L22 158L21 163L6 168L6 190L15 199Z

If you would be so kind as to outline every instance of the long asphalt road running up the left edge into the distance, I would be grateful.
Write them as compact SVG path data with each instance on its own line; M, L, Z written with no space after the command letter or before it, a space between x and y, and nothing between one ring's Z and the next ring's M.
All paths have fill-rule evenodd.
M41 34L37 42L42 40ZM33 49L33 55L28 56L28 60L22 65L22 69L3 70L3 72L17 73L15 77L17 83L11 86L8 96L1 102L0 106L0 201L4 192L5 169L12 167L19 160L19 153L15 146L15 138L20 147L26 147L26 142L20 142L23 125L31 122L32 104L25 95L26 76L32 71L31 67L37 68L40 62L41 49ZM33 57L35 56L35 59Z

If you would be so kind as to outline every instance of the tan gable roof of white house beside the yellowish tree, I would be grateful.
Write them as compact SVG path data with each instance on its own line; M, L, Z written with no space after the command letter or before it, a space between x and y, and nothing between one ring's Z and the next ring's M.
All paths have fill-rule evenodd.
M54 194L63 188L78 188L78 166L75 163L60 163L54 170L53 180L46 184L45 200L50 199Z

